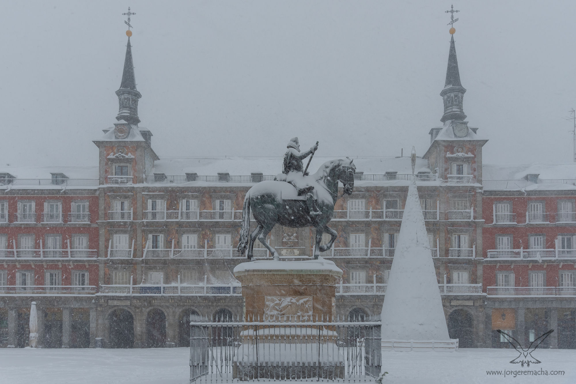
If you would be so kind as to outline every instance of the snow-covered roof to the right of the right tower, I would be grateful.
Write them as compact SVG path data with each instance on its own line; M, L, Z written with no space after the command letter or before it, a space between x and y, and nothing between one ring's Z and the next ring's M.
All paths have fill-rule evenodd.
M519 180L526 175L539 179L576 179L576 163L566 164L483 164L483 180Z

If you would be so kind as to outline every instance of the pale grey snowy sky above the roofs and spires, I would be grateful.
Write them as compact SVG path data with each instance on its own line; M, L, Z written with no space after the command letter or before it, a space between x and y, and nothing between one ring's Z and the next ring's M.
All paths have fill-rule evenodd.
M158 155L422 155L440 125L450 2L5 2L0 164L97 165L128 5ZM464 112L486 163L572 160L576 2L459 1ZM1 167L0 167L1 171Z

